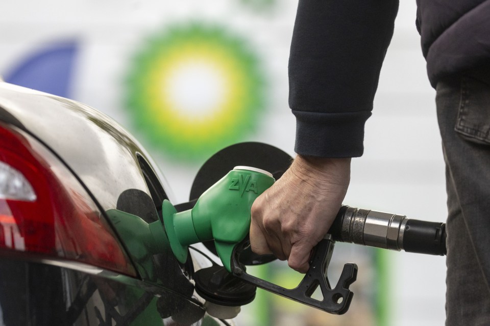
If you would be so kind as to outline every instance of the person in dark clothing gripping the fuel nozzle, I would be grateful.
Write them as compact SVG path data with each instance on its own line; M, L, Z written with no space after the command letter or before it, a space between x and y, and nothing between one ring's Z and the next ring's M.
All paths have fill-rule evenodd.
M446 162L447 325L490 324L490 0L418 0ZM398 1L300 0L289 57L296 158L252 206L250 239L305 272L363 153Z

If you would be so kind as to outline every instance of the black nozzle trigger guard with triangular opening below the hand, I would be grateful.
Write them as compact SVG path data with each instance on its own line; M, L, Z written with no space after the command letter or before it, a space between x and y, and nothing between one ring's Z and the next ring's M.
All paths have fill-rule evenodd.
M250 246L248 237L235 246L231 256L231 271L234 276L269 292L328 313L344 314L349 309L354 294L349 290L349 286L357 278L357 265L352 263L345 264L337 285L332 289L327 278L327 268L332 257L334 245L335 241L329 234L318 242L310 258L310 268L300 284L293 289L286 289L247 274L246 268L240 263L239 258L244 249ZM323 300L321 301L311 297L318 287L320 287L323 295Z

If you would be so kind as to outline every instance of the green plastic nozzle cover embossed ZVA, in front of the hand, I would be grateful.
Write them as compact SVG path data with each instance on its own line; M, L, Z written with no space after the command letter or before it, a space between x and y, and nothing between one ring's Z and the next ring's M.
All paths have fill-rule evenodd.
M164 201L163 222L177 259L186 261L190 244L214 240L219 258L231 273L233 250L249 233L252 204L274 182L267 171L239 166L204 192L192 209L177 212Z

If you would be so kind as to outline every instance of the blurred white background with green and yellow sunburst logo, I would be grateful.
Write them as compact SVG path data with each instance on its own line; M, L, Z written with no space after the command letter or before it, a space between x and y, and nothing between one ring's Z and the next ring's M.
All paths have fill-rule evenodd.
M214 152L259 141L294 155L287 64L297 1L34 0L0 4L0 75L86 103L130 130L188 200ZM402 2L381 71L365 154L345 203L444 221L444 162L434 96ZM83 137L83 135L80 135ZM238 325L443 325L445 258L337 243L330 282L359 266L349 312L332 316L258 291ZM257 275L295 286L284 263Z

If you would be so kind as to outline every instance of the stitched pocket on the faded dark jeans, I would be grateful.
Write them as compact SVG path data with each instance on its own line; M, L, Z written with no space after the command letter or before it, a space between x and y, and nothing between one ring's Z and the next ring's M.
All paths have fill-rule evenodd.
M472 77L461 79L461 101L454 128L462 138L490 145L490 86Z

